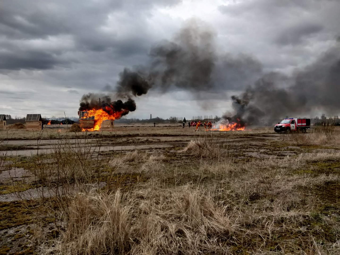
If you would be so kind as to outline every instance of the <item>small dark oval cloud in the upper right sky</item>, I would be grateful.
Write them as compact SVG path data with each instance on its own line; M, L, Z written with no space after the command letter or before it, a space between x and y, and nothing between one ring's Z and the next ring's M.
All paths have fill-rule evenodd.
M295 45L303 43L303 39L320 32L323 26L320 24L297 24L281 32L275 43L280 45Z

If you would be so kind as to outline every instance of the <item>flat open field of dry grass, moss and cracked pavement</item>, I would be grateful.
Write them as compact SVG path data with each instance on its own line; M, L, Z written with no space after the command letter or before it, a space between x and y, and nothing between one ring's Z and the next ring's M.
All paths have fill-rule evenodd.
M340 254L340 129L0 131L1 254Z

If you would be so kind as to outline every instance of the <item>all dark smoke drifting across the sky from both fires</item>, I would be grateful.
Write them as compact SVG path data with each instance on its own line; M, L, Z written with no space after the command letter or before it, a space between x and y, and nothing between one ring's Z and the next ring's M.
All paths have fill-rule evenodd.
M112 93L115 98L128 101L118 100L119 107L134 111L130 110L135 109L132 98L145 95L150 89L185 90L196 99L202 92L221 95L228 90L239 90L242 94L231 98L234 112L225 114L224 118L240 119L248 125L259 121L271 124L286 115L309 116L317 110L328 114L339 111L339 45L325 50L315 63L287 76L278 72L263 74L261 63L252 56L219 52L215 37L206 24L195 20L173 41L162 41L152 47L148 64L133 70L125 68L120 73ZM203 95L209 99L208 94ZM96 105L98 98L95 94L84 95L80 109ZM111 102L110 97L101 99L105 104Z

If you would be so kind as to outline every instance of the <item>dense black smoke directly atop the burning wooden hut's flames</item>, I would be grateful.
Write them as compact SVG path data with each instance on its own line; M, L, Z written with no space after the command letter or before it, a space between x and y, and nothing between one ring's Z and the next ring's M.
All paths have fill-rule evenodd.
M83 95L81 98L79 111L88 111L91 109L102 109L109 115L113 115L115 112L123 112L121 116L124 116L129 112L136 110L136 103L131 98L123 103L122 100L112 101L107 95L92 93Z

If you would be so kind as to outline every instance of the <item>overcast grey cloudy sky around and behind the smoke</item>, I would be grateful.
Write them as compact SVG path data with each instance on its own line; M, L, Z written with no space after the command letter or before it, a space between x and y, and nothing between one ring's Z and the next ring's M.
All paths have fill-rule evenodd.
M221 115L263 72L294 72L340 38L338 0L2 0L0 114L76 116L83 94L114 88L124 67L147 63L191 19L224 56L220 89L151 90L128 117Z

